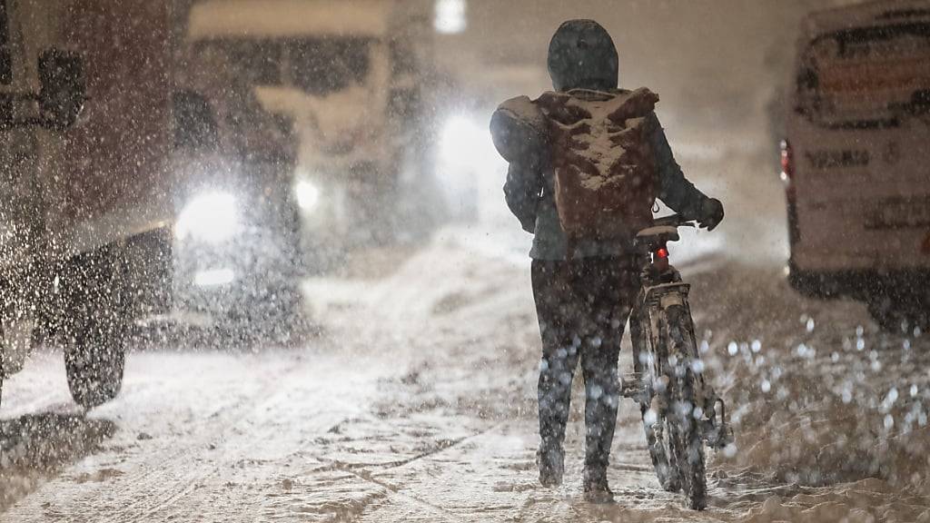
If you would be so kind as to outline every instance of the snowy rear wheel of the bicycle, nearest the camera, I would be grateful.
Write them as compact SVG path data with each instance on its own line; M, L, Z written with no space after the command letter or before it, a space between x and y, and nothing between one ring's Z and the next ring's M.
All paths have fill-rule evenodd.
M679 478L693 510L707 507L707 476L705 472L704 441L699 421L704 406L698 405L697 388L700 379L692 362L697 359L694 327L691 315L684 305L673 305L664 311L662 337L667 343L663 362L669 378L669 415L666 431L671 443L671 455L678 465ZM697 412L696 412L697 409Z

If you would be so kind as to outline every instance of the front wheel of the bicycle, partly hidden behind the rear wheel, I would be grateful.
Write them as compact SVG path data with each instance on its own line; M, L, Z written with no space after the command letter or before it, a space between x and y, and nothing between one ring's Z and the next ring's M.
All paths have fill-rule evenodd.
M637 301L639 302L639 301ZM644 337L644 329L640 322L643 318L639 315L633 315L630 321L631 340L633 346L633 371L643 376L647 369L644 369L644 362L640 360L640 355L655 354L651 347L651 341ZM651 395L649 395L651 397ZM671 454L664 436L659 436L656 431L656 424L661 423L658 412L650 412L649 402L640 402L640 414L643 420L643 430L645 433L645 444L649 450L649 458L652 460L652 467L656 471L658 483L668 492L677 492L681 490L677 467L674 463L674 456ZM655 419L654 419L655 418Z

